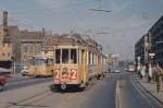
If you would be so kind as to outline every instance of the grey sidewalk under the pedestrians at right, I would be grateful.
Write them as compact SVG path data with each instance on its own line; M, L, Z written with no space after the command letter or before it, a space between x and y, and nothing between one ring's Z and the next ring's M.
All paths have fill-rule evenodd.
M146 77L143 80L136 77L136 80L147 92L149 92L150 95L152 95L155 99L158 99L160 103L163 104L163 85L162 85L161 92L158 94L155 82L148 83Z

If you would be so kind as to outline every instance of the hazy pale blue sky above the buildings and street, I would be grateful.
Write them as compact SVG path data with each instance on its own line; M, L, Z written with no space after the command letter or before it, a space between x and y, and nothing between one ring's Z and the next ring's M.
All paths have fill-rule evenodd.
M104 52L134 59L136 41L163 15L163 0L0 0L3 10L20 29L89 34Z

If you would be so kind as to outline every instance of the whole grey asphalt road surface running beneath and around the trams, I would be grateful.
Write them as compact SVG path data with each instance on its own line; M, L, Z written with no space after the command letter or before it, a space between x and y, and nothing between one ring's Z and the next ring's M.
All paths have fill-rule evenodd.
M96 81L85 91L71 88L61 92L55 91L52 84L52 81L37 83L4 92L0 94L0 106L3 105L2 108L163 108L148 93L140 91L134 81L134 75L127 72L111 73L110 77ZM7 96L3 101L1 96Z

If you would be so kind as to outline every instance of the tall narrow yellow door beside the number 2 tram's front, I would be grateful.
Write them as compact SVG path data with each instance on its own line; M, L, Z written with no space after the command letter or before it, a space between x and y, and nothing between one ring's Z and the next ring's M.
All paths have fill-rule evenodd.
M84 84L87 82L87 51L85 49L82 50L82 77Z

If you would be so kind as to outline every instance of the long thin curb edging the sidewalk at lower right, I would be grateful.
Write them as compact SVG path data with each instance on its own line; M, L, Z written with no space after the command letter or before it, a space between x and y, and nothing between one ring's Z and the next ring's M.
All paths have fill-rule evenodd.
M150 96L152 96L155 100L158 100L161 105L163 105L163 100L161 100L159 97L156 97L155 95L153 95L150 91L148 91L145 86L142 86L140 84L140 82L138 80L134 80L135 83L137 83L146 93L148 93Z

